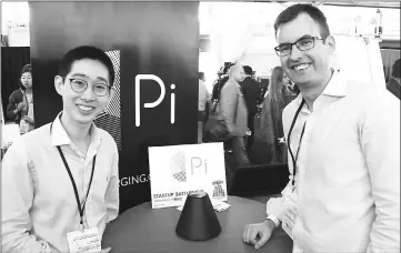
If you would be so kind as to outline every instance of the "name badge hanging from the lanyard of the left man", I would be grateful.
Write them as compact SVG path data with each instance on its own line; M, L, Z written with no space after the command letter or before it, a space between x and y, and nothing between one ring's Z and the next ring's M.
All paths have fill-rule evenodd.
M70 253L98 253L101 251L98 227L67 233Z

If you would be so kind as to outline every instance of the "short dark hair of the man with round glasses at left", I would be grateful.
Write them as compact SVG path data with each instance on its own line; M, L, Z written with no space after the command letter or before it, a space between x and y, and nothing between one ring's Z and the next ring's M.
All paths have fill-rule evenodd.
M71 71L72 63L82 59L96 60L104 64L104 67L109 71L110 85L113 85L116 73L111 59L108 57L108 54L106 54L103 50L92 45L81 45L68 51L61 59L58 74L60 77L66 77Z

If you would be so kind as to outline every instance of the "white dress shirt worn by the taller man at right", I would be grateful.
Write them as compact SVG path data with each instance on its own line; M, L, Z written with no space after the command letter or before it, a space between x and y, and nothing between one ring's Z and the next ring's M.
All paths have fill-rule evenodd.
M287 140L301 100L283 111ZM334 73L313 112L304 104L298 117L294 155L304 122L293 252L400 252L400 101ZM268 203L267 213L281 220L282 199Z

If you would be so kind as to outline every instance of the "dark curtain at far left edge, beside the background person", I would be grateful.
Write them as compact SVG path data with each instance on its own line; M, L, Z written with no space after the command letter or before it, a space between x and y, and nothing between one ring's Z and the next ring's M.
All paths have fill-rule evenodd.
M29 47L1 48L1 103L3 111L6 111L10 94L19 89L22 67L29 63Z

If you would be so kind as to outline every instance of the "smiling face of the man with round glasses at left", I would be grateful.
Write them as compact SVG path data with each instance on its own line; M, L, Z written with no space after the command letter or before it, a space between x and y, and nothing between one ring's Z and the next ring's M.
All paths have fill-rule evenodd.
M71 88L71 79L76 79L76 83L82 84L82 80L88 83L88 88L79 93ZM109 82L109 71L100 61L91 59L77 60L71 64L70 72L66 78L57 75L54 78L54 85L57 92L62 97L63 113L67 119L81 124L92 123L111 100L114 90L104 97L98 97L93 93L93 85L104 84ZM76 88L77 90L77 88Z

